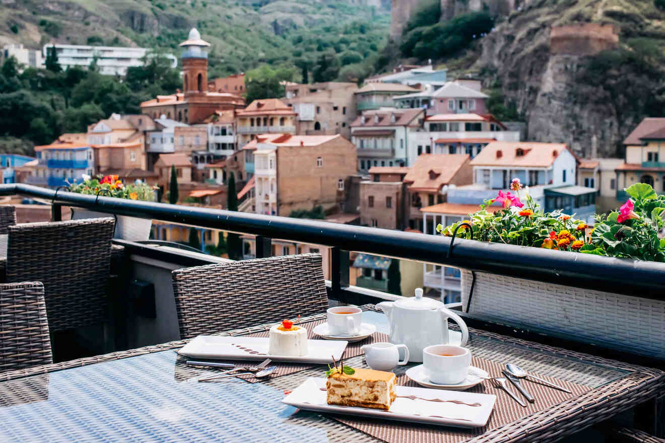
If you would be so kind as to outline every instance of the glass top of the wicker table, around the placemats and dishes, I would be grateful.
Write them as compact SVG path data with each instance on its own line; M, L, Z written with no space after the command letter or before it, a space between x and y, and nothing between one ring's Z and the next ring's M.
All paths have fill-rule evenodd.
M366 311L363 321L388 332L382 313ZM591 387L626 374L473 334L469 349ZM362 357L349 360L350 365L363 363ZM281 402L285 390L322 376L321 368L261 383L236 378L198 383L217 371L188 367L175 351L161 351L6 381L0 383L0 441L344 442L350 436L352 441L377 441Z

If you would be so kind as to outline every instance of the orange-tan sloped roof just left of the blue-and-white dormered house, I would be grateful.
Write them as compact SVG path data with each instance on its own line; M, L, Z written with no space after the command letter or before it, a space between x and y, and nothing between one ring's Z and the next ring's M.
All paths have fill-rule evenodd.
M438 192L469 161L466 154L422 154L404 177L409 191Z

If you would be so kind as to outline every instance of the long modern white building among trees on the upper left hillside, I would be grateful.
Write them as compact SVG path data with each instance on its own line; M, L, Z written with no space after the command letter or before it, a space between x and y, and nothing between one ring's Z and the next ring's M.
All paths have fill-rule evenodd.
M45 44L42 48L42 66L45 63L49 48L55 46L58 54L58 63L63 69L70 66L90 66L93 58L97 57L97 66L101 74L121 75L127 74L130 66L143 66L143 58L148 53L147 48L120 48L117 46L87 46L84 44ZM171 60L171 67L178 66L178 59L173 54L164 54Z

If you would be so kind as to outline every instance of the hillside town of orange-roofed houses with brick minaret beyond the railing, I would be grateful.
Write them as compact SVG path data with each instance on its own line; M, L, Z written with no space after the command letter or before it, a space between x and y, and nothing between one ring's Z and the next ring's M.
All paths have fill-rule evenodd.
M662 118L634 129L624 159L600 158L596 139L583 158L565 143L525 140L523 124L488 114L479 80L448 78L432 65L400 65L360 86L288 82L283 98L246 103L244 74L208 78L209 46L192 29L180 43L182 89L140 103L140 114L112 114L86 133L63 133L35 147L36 158L3 155L3 183L56 189L116 175L154 185L160 199L177 185L177 203L227 209L233 179L238 211L425 234L466 219L515 178L546 211L590 224L625 200L622 190L633 183L665 192ZM152 236L191 238L190 228L158 221ZM196 236L205 252L221 234ZM241 256L253 257L253 238L241 240ZM321 252L297 243L274 248L276 255ZM376 260L361 256L354 264L358 286L388 288L391 260ZM459 270L406 261L399 269L400 292L422 286L459 300Z

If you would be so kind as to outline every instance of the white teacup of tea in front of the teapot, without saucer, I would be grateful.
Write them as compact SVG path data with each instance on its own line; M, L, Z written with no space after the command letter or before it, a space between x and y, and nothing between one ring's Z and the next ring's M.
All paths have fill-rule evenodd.
M432 383L457 385L469 373L471 351L455 345L428 346L422 351L422 364Z

